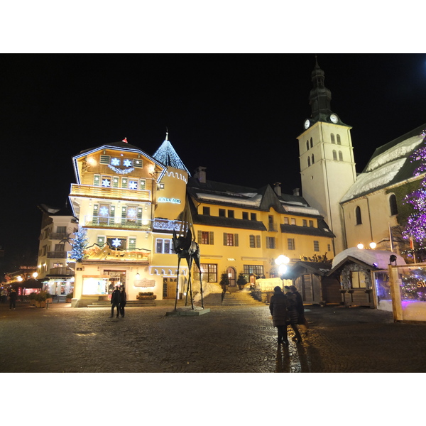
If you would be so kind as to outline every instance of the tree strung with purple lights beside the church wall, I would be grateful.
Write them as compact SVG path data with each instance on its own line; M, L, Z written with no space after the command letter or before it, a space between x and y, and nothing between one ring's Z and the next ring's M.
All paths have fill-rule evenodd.
M420 161L420 165L414 170L414 175L418 176L426 172L426 132L422 132L423 142L412 155L412 161ZM416 241L420 249L425 248L426 244L426 175L420 182L420 187L405 196L404 204L411 204L413 213L407 218L407 224L403 229L403 238L410 239L413 247L413 241Z

